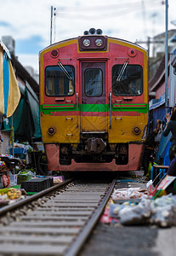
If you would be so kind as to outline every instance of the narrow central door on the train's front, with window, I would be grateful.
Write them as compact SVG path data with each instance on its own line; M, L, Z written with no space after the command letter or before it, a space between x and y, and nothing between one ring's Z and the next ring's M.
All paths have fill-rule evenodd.
M81 131L107 131L105 62L82 62Z

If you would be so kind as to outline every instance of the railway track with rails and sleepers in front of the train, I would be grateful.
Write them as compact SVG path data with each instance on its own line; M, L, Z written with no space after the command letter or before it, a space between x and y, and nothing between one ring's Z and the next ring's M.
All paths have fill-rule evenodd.
M115 183L116 180L69 180L14 206L3 207L0 256L77 255L98 222Z

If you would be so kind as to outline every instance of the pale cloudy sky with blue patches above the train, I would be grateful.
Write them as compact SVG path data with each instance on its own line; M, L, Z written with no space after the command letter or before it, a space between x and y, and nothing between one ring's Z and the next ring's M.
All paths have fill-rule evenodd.
M168 0L168 29L176 29L176 0ZM0 39L12 36L15 55L38 72L38 53L50 44L51 6L56 8L53 43L91 27L131 42L165 32L162 0L0 0ZM146 48L144 44L143 47Z

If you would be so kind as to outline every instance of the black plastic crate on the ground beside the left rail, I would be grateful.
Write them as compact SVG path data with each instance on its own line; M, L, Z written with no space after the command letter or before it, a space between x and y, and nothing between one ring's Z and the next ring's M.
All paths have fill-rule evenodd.
M50 188L53 184L53 180L50 177L37 177L22 182L20 188L25 189L26 192L40 192Z

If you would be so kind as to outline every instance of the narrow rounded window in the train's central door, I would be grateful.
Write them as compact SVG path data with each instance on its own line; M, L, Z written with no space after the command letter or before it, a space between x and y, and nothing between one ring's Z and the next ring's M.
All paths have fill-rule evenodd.
M103 73L99 68L88 68L84 73L85 95L101 96L103 92Z

